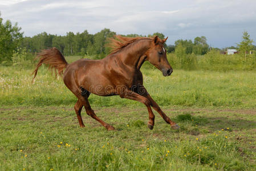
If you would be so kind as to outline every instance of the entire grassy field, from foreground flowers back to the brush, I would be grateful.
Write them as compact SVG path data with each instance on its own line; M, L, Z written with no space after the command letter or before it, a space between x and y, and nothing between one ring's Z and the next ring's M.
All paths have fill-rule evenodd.
M67 58L69 61L76 58ZM0 66L0 170L255 170L254 71L143 68L144 84L181 129L174 131L137 101L90 96L95 113L116 131L82 116L76 98L41 68Z

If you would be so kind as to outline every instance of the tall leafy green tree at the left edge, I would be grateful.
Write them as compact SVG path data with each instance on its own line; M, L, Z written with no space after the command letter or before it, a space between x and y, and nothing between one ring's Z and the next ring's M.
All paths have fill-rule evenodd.
M21 44L22 37L23 32L18 23L13 26L10 20L3 23L3 19L0 18L0 62L11 60L14 50Z

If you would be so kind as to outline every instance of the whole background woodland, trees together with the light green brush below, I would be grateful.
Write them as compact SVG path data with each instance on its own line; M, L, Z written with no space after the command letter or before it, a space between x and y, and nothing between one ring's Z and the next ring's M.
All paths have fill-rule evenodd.
M1 13L0 13L1 17ZM22 28L0 18L0 64L26 66L34 63L35 55L41 50L56 47L64 56L81 56L81 58L102 59L109 54L106 46L109 38L116 32L109 28L90 34L83 32L67 32L66 35L42 32L32 37L23 36ZM155 32L149 35L128 34L123 36L152 37L164 39L166 35ZM178 39L173 45L165 45L167 58L175 69L184 70L254 70L256 68L256 46L247 31L243 32L242 41L237 47L213 48L207 43L205 36L197 36L194 40ZM224 55L227 48L238 50L237 55ZM253 54L250 54L253 52Z

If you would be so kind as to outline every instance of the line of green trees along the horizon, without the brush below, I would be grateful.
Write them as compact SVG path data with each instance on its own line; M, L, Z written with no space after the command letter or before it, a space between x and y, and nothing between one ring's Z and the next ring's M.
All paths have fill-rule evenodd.
M36 54L43 49L51 47L58 48L64 56L88 55L93 56L95 59L101 59L109 54L110 49L105 46L108 43L108 38L112 38L116 35L116 32L104 28L96 34L90 34L87 30L84 30L83 32L76 32L76 34L74 32L67 32L66 35L63 36L42 32L31 37L23 37L21 27L18 27L17 23L12 25L9 20L5 23L2 21L3 19L0 18L0 62L12 60L13 55L17 55L17 52L24 53L24 51L26 51L29 54ZM149 34L147 36L138 34L128 34L123 36L151 37L155 35L159 36L161 39L165 38L165 35L161 32L155 32L152 35ZM253 40L250 39L250 35L247 32L243 33L242 39L242 42L237 45L244 54L255 48L255 46L251 44L253 43ZM193 41L179 39L176 40L174 45L165 44L165 48L168 53L176 51L176 54L181 54L180 56L189 54L204 55L211 49L205 36L197 36Z

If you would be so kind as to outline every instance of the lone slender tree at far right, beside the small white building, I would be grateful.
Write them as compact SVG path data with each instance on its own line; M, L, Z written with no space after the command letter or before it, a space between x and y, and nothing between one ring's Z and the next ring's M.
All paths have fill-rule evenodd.
M246 60L246 54L253 50L253 39L250 39L250 35L247 31L243 32L242 41L237 44L239 52L241 54L245 54L245 60Z

